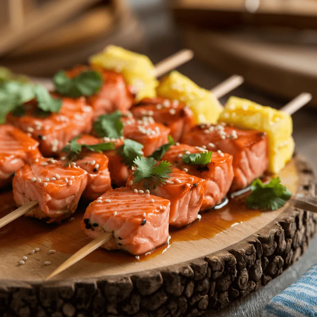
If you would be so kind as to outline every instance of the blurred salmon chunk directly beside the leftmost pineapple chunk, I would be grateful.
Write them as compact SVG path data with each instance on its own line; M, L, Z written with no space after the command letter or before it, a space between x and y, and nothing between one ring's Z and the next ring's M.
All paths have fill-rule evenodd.
M83 71L91 70L87 66L76 66L69 70L66 74L72 78L79 75ZM87 102L94 109L94 119L101 114L111 113L119 110L122 113L132 107L134 95L130 92L124 77L114 71L104 68L96 68L103 78L103 85L100 91L87 98Z

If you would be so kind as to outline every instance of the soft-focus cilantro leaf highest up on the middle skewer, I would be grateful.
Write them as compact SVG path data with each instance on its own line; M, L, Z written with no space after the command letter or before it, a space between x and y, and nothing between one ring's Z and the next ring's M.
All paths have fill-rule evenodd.
M122 116L123 114L120 111L99 116L98 120L94 123L96 133L101 138L120 138L123 129L123 124L120 120Z

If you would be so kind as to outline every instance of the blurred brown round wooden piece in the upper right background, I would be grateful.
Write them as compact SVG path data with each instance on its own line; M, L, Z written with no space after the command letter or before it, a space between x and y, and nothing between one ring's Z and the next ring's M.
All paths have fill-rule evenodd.
M184 29L195 56L254 87L292 99L303 91L317 106L317 33L281 29L203 31Z

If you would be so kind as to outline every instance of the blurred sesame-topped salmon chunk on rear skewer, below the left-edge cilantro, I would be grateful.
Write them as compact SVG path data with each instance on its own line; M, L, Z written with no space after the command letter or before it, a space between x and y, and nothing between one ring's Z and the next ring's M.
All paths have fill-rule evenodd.
M92 128L93 110L84 97L63 98L60 112L44 117L37 114L32 102L25 108L24 116L9 114L7 121L36 139L44 156L56 156L68 141L79 134L89 133Z

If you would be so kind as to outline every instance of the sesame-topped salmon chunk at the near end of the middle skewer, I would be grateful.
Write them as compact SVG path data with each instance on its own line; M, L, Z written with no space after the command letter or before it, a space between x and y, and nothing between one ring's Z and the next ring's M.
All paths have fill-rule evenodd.
M61 161L41 158L16 171L13 197L17 206L39 202L26 216L59 223L75 212L86 185L87 172L80 167L65 167Z

